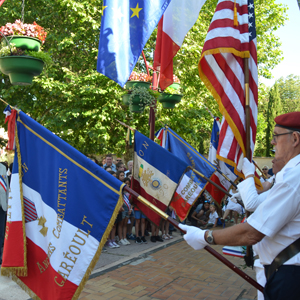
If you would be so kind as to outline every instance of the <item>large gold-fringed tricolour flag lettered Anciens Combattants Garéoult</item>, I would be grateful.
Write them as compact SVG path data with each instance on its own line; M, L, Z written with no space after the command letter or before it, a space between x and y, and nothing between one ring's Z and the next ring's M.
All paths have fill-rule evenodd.
M1 274L39 299L77 299L123 204L123 184L23 112Z

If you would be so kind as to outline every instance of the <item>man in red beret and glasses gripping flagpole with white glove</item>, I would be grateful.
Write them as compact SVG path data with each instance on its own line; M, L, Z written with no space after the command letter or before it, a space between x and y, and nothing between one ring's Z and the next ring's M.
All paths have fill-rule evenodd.
M266 300L300 299L300 112L275 118L272 145L282 170L247 223L218 231L180 224L184 239L195 250L207 245L256 245L264 265ZM255 166L244 158L243 185L253 187ZM239 185L238 185L239 188ZM239 188L241 191L241 189ZM292 246L290 246L293 244Z

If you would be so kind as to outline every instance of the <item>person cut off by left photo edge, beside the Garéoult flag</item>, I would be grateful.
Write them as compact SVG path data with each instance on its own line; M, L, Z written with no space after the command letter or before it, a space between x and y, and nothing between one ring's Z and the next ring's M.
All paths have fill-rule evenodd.
M9 193L7 169L8 169L7 163L1 162L0 163L0 265L2 264L7 201L8 201L8 193Z

